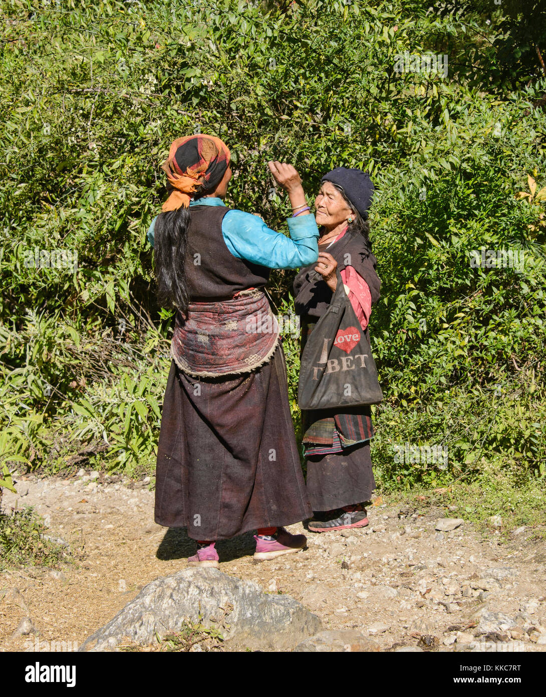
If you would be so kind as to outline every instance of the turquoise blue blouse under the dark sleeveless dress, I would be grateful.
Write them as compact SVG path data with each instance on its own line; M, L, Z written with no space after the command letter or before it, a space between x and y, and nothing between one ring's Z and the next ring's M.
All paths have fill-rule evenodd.
M190 201L190 206L225 206L217 197ZM154 244L154 226L148 228L148 242ZM318 227L314 215L288 218L290 237L271 230L252 213L228 210L222 219L222 236L228 250L237 259L247 259L268 268L299 268L318 259Z

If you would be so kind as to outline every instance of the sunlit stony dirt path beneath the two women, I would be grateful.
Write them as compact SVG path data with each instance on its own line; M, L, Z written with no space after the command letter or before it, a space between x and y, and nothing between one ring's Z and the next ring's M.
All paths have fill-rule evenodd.
M61 574L35 567L0 574L0 650L26 650L35 641L81 645L146 583L184 569L194 553L182 530L153 522L148 484L102 474L96 482L19 477L17 489L17 496L5 491L4 509L35 506L77 562ZM421 636L437 637L437 650L462 650L474 641L481 618L479 627L491 625L482 635L487 641L545 651L545 542L526 539L528 531L520 529L500 544L499 535L481 539L468 523L435 532L445 515L374 507L368 528L307 533L306 551L258 565L249 533L217 545L220 569L291 595L319 615L325 629L359 629L384 650L430 643ZM305 532L301 525L289 529ZM13 638L25 616L40 632L37 640Z

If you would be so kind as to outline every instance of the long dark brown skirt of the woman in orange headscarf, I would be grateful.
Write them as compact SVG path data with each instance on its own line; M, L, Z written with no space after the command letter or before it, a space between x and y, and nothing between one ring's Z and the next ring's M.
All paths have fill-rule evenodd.
M167 382L155 486L155 522L193 539L311 517L281 344L256 371L192 378L173 361Z

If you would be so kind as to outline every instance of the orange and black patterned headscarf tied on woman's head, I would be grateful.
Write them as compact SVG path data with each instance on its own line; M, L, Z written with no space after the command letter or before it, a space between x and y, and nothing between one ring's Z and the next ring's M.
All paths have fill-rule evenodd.
M187 208L189 194L198 186L201 191L213 191L226 174L230 159L228 146L213 135L198 133L173 140L169 158L161 166L172 187L163 212Z

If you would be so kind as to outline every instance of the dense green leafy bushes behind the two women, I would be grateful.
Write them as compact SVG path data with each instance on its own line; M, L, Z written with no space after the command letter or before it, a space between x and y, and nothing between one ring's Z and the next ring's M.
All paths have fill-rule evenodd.
M276 229L267 160L310 197L332 167L369 169L384 489L546 474L544 3L430 4L1 1L5 469L153 471L171 312L146 230L171 140L201 130L233 153L226 203ZM447 75L397 72L406 54ZM482 249L523 267L472 266ZM39 250L77 268L31 266ZM281 314L291 278L272 277ZM395 461L404 443L447 447L447 468Z

